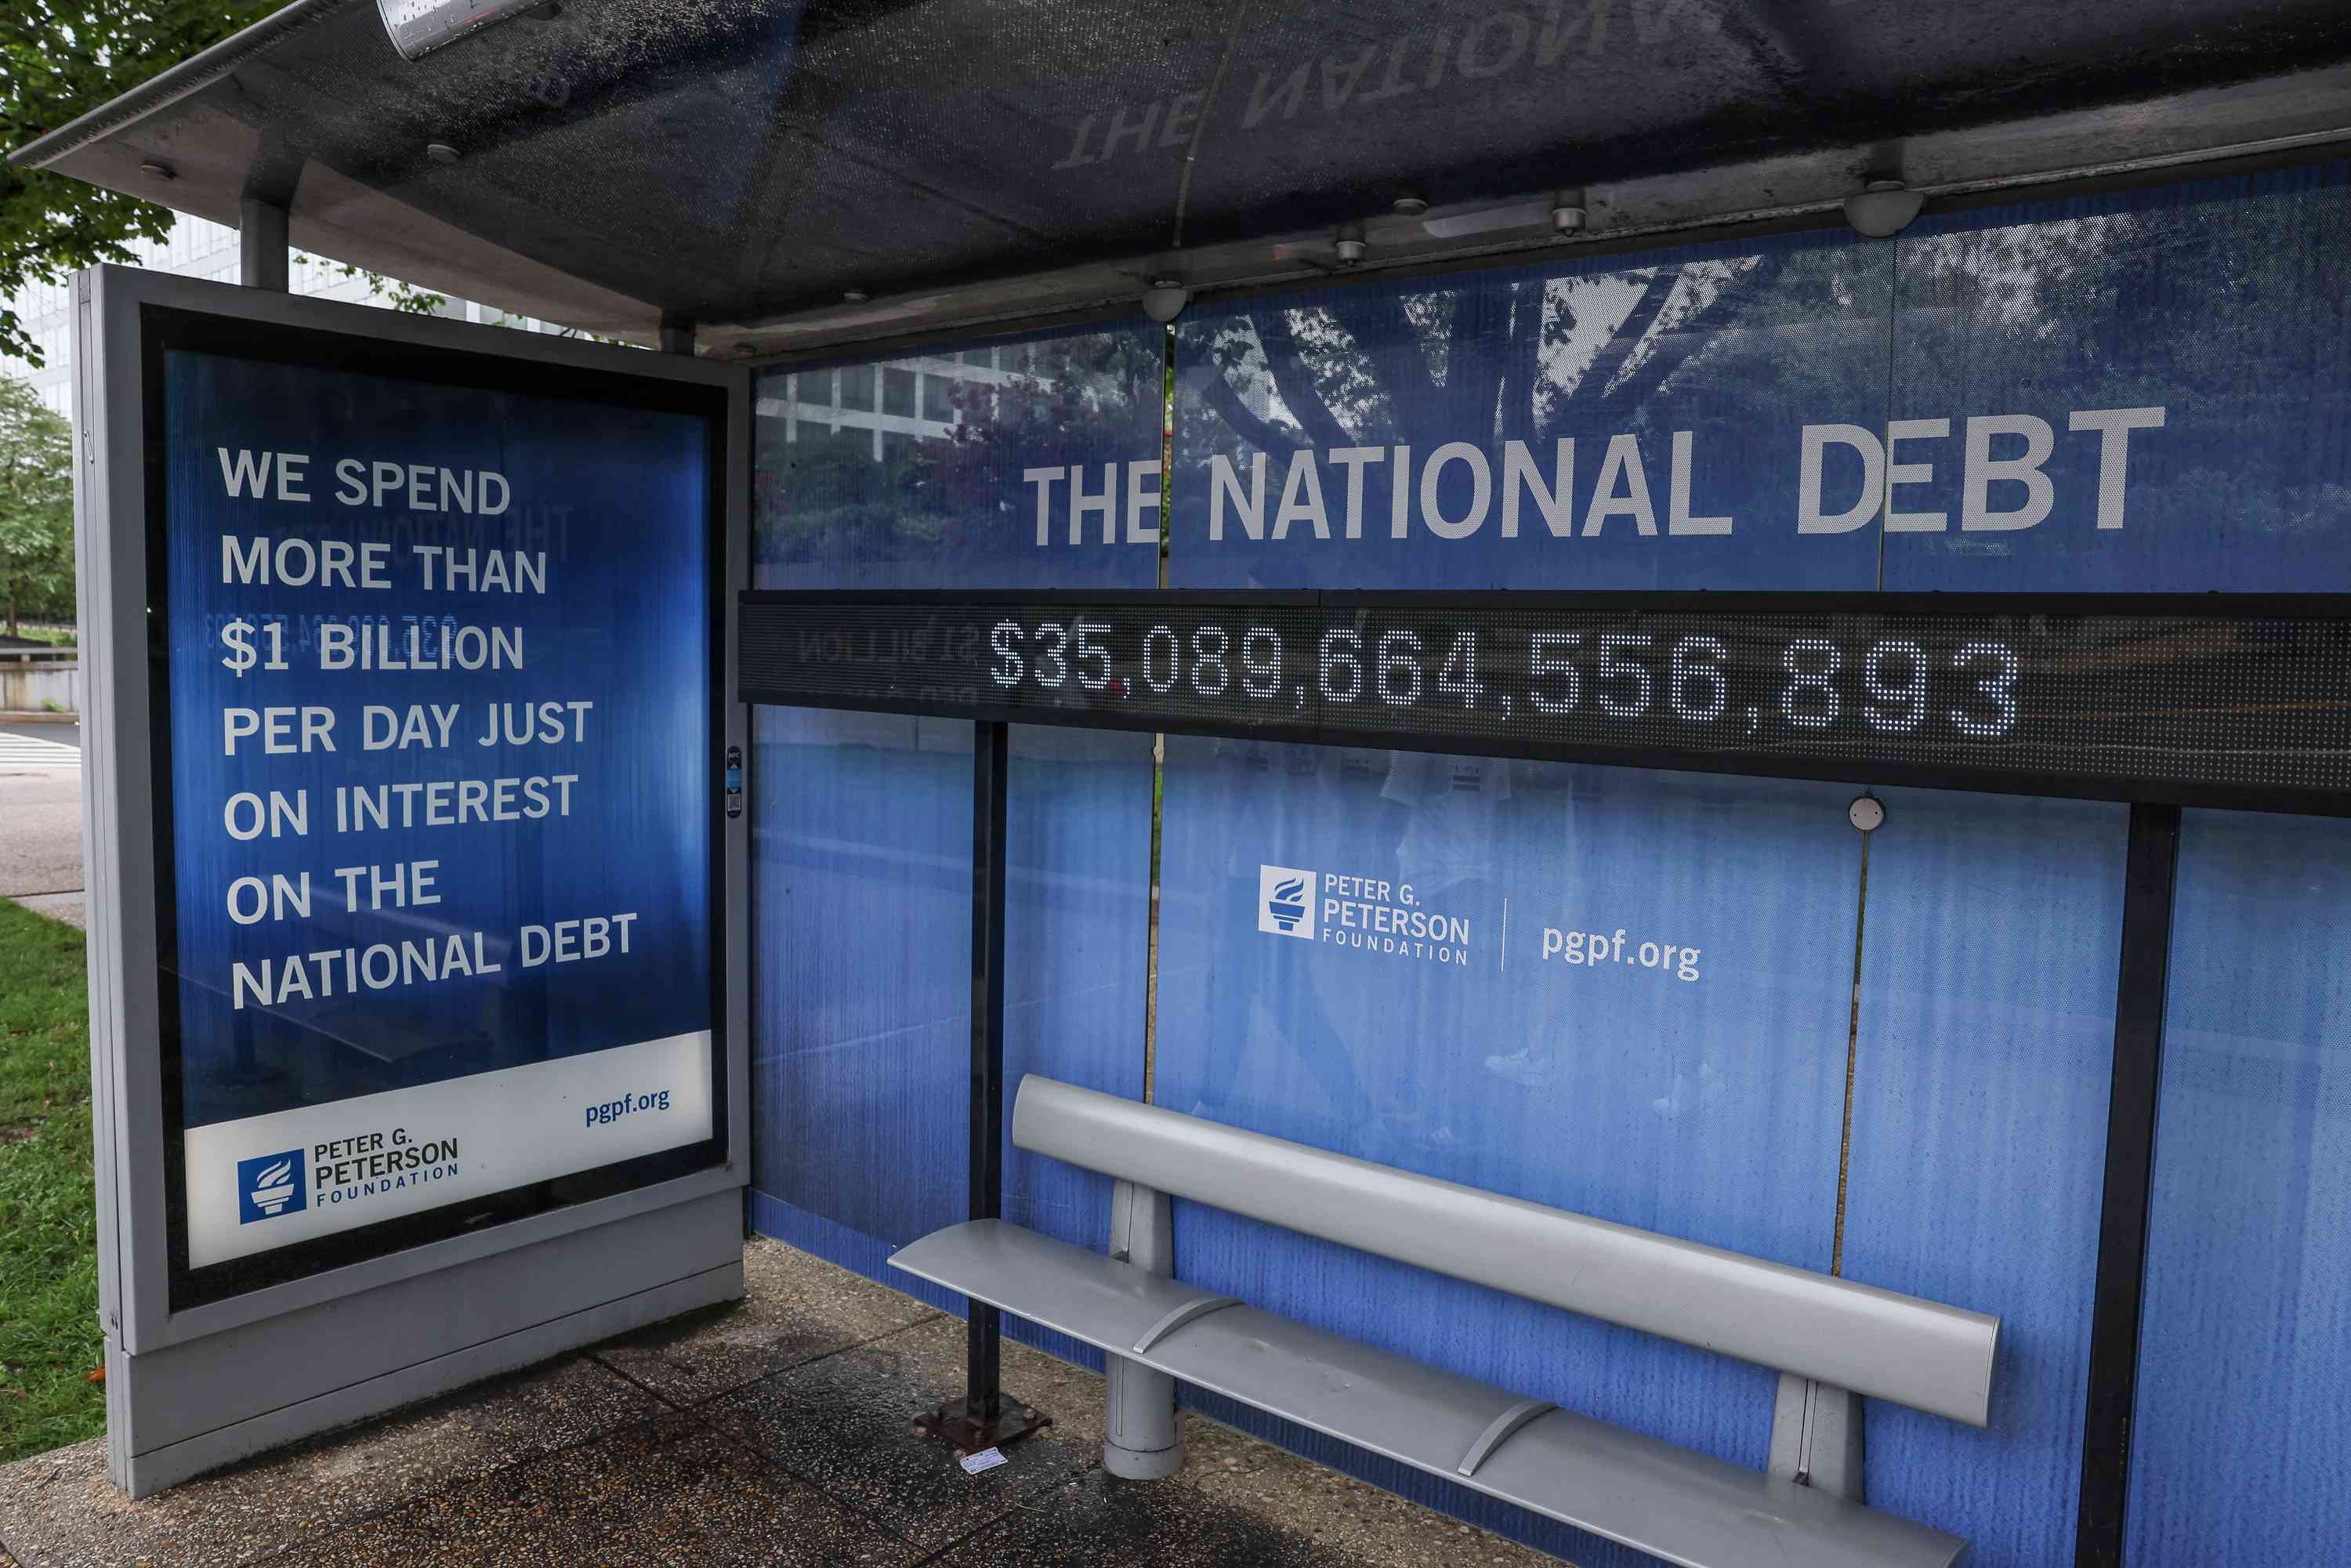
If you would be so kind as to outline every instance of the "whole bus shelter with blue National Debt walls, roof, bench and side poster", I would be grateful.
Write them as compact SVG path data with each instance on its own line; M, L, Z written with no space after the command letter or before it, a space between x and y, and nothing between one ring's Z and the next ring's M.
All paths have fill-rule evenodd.
M118 1481L724 1298L743 1187L966 1448L1016 1333L1578 1563L2339 1556L2346 103L2316 2L320 0L19 148L661 350L78 284ZM491 571L510 668L400 602ZM517 818L334 1011L190 823L395 668ZM581 1126L327 1208L458 1166L369 1095Z

